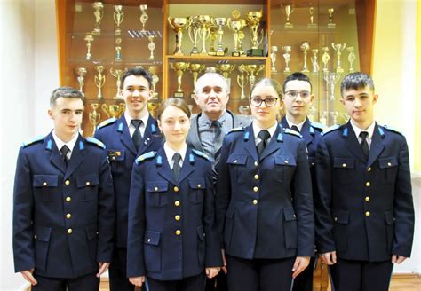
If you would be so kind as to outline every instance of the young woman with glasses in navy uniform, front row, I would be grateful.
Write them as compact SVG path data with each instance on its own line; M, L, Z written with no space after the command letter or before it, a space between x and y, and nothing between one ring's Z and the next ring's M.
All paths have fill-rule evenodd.
M260 80L250 94L253 122L224 138L216 208L230 291L290 290L314 256L306 145L278 124L281 98L279 83Z

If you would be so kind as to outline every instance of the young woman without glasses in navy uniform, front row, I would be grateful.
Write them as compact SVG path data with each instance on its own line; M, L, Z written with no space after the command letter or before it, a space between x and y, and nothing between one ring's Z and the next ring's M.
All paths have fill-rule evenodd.
M190 111L179 98L157 112L165 142L133 164L127 274L148 289L203 290L222 265L211 162L187 147Z

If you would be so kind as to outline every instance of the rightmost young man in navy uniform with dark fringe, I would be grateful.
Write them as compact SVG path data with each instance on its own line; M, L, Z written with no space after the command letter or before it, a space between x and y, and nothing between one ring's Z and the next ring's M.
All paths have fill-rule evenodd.
M414 235L408 146L375 122L369 75L346 75L341 95L351 119L323 131L316 151L317 248L335 290L388 290Z

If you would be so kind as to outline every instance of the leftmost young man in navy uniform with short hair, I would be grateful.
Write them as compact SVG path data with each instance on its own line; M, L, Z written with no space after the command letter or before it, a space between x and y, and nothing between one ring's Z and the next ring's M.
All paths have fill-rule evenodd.
M98 290L113 251L111 170L104 145L83 138L83 95L52 92L54 129L20 148L14 184L15 271L33 290Z

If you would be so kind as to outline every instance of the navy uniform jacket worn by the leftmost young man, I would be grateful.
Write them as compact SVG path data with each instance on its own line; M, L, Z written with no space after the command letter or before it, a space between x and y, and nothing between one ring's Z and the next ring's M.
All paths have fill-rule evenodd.
M102 146L102 147L101 147ZM75 278L111 262L114 193L107 152L77 138L68 167L52 133L22 146L13 201L15 271Z

